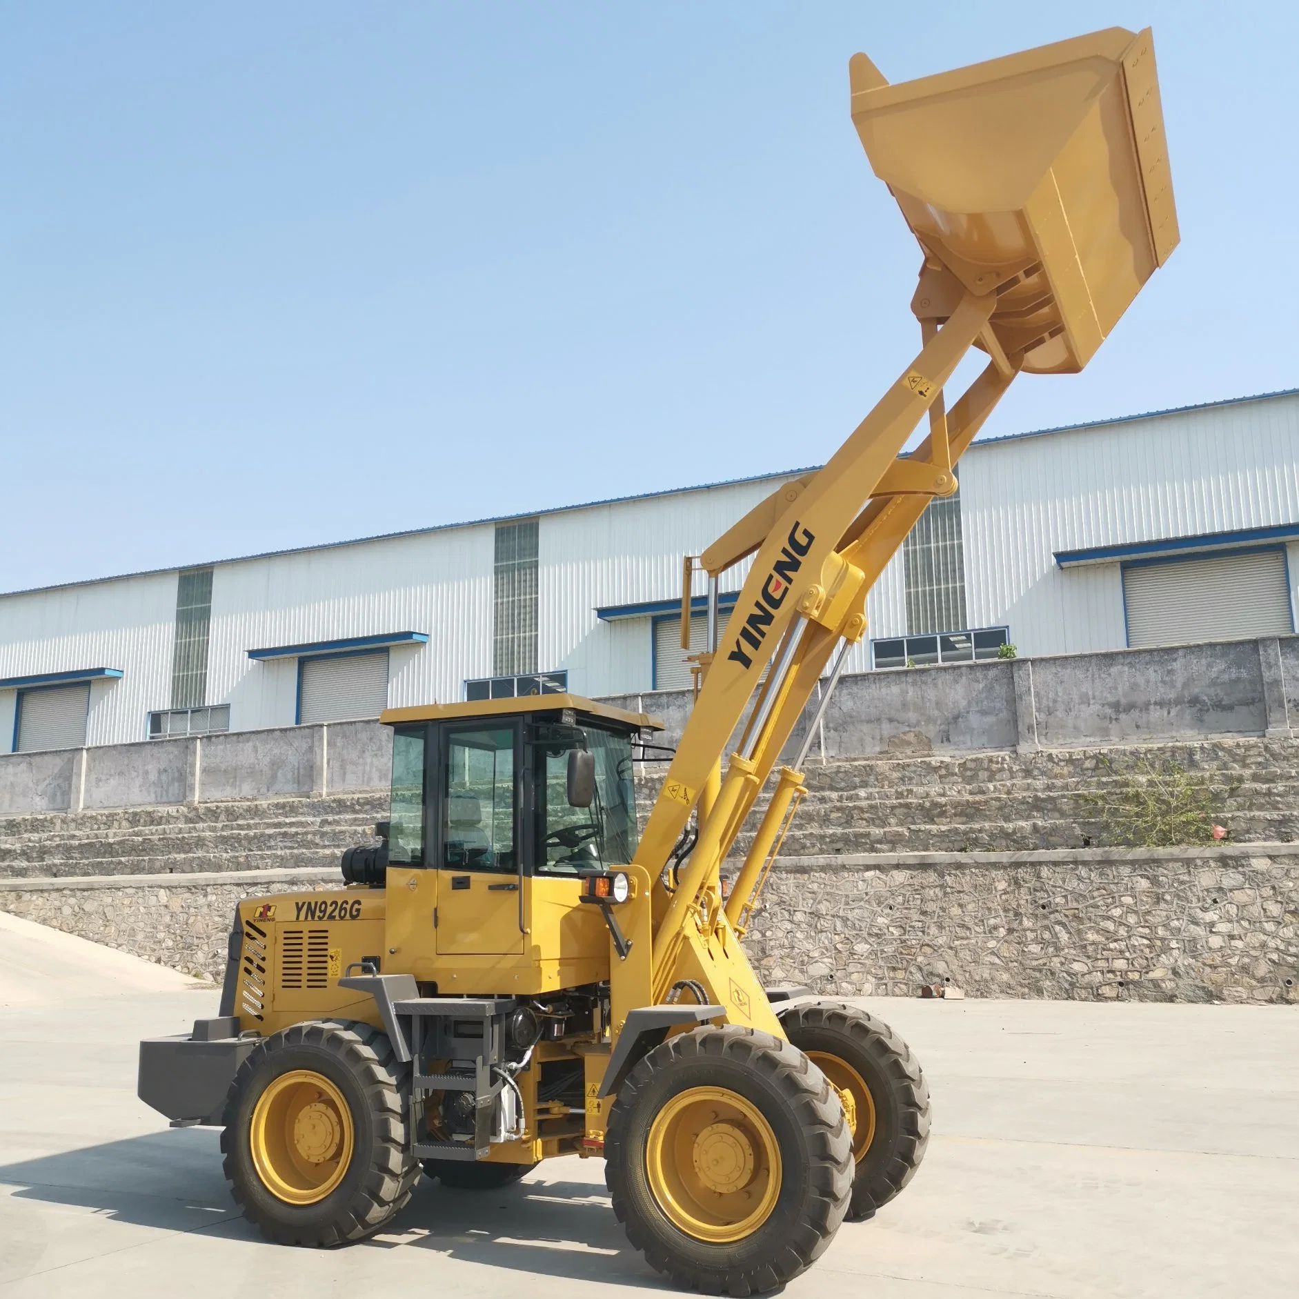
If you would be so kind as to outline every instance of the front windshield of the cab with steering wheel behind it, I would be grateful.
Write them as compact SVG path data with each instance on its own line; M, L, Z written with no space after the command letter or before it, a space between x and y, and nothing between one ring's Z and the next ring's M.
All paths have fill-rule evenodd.
M533 769L536 779L536 869L572 876L625 866L637 851L637 801L631 783L631 737L596 726L536 726ZM585 748L595 759L595 798L587 808L569 805L568 755Z

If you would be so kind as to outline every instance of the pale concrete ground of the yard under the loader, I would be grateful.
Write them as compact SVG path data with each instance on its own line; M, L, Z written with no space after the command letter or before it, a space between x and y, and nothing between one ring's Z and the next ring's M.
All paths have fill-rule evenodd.
M1270 1299L1299 1277L1299 1009L864 1003L925 1065L934 1138L908 1190L844 1226L790 1296ZM664 1291L599 1161L504 1192L425 1182L348 1250L262 1243L217 1133L135 1098L135 1043L209 986L0 914L0 1296Z

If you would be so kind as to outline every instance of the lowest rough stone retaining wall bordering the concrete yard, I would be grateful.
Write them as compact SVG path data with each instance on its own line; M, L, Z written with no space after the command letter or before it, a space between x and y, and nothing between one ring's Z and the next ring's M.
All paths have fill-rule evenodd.
M0 909L220 978L239 898L333 872L0 881ZM747 947L768 983L914 996L1299 1002L1299 844L792 857Z

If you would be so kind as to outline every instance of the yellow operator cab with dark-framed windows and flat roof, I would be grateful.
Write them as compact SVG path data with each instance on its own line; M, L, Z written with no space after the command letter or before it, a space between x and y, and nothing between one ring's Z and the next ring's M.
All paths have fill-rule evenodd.
M373 878L387 886L383 972L474 995L607 977L604 921L579 905L582 882L631 861L633 744L662 724L568 694L381 720L392 727Z

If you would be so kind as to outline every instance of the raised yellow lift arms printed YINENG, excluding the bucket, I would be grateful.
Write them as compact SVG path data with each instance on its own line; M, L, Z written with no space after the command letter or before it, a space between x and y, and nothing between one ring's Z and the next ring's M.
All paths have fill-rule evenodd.
M750 700L757 698L718 792L701 809L688 866L657 917L656 970L672 968L687 913L698 908L703 891L716 887L721 863L835 646L861 638L870 586L929 500L956 490L952 460L1009 387L1015 368L1003 374L990 364L957 403L951 421L942 412L943 385L985 331L995 307L995 295L965 295L942 327L926 330L929 340L914 361L824 469L778 488L701 556L712 578L756 551L731 616L727 639L733 643L718 647L707 664L695 709L640 840L637 863L651 876L662 870L727 739ZM914 457L899 459L926 412L931 414L929 439ZM753 536L768 522L766 531ZM773 656L774 666L759 686L763 666ZM751 900L759 869L751 855L726 907L733 925Z

